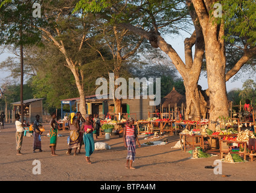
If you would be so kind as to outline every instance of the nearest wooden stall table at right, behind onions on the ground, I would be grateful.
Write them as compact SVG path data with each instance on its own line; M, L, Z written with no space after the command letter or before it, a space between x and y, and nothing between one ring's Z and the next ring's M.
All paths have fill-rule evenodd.
M220 141L220 159L223 158L224 154L228 154L228 153L233 154L233 153L235 153L235 154L242 154L243 155L243 159L246 160L247 142L244 142L244 141L228 141L228 140L224 140L224 139L219 139L219 141ZM234 151L233 152L229 148L225 147L224 143L226 143L226 146L228 144L233 144L233 143L235 143L235 144L243 144L244 150L243 150L243 152L240 152L240 151Z

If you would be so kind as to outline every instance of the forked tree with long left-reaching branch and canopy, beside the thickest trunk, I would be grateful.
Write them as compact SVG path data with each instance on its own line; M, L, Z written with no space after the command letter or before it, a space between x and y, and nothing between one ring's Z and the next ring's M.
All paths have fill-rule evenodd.
M205 51L203 34L196 12L187 9L187 1L96 1L81 0L77 7L92 11L106 18L110 24L119 25L149 40L153 48L164 51L181 74L186 89L187 115L205 116L206 101L197 89L203 54ZM185 39L185 62L164 39L165 34L178 33L179 29L188 29L193 25L188 19L191 15L194 32ZM192 48L195 46L194 56Z

